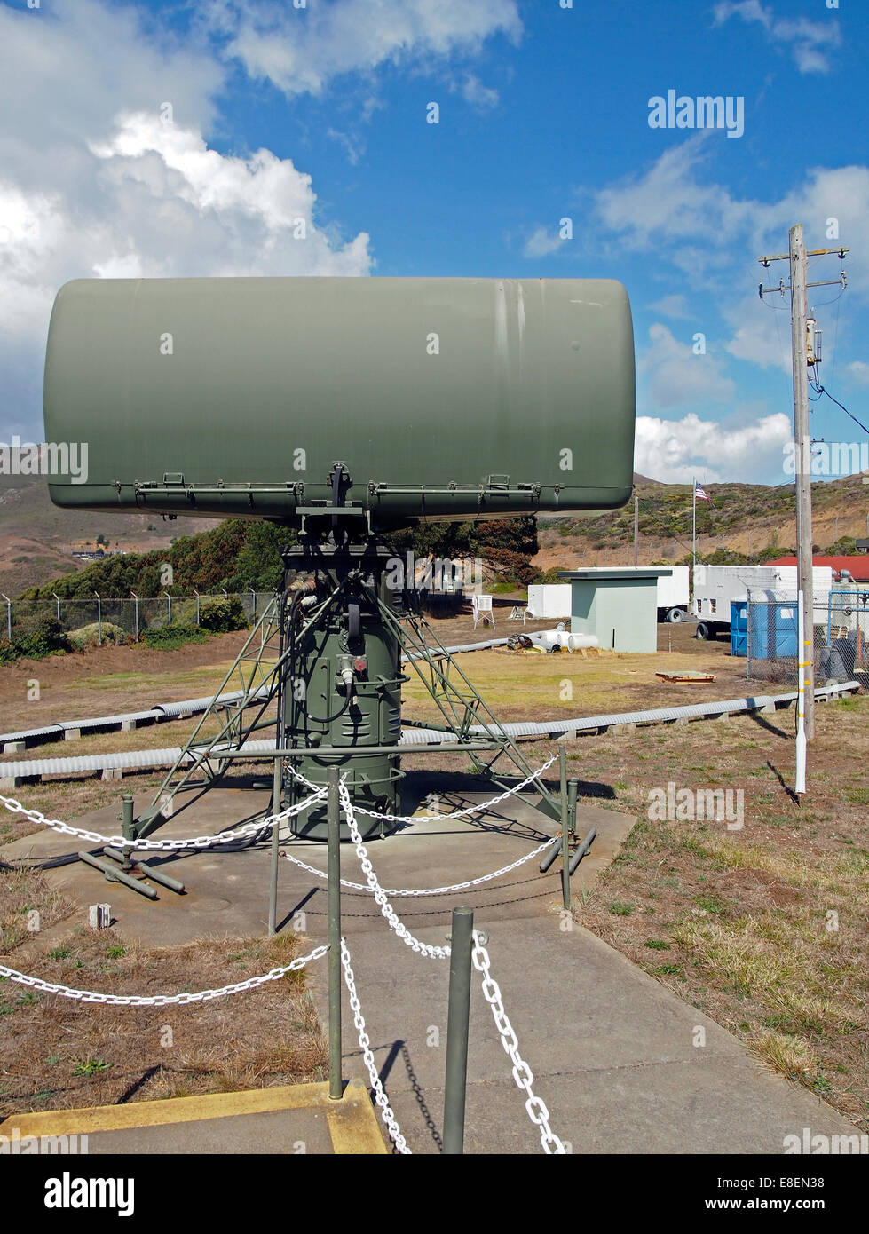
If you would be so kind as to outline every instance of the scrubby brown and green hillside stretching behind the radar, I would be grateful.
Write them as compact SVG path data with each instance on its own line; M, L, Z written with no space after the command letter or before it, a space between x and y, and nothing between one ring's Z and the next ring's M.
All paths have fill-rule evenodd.
M14 482L10 482L12 480ZM638 563L673 563L691 550L691 486L669 485L634 474L639 497ZM767 550L778 557L796 543L794 486L709 484L711 502L697 502L697 554L738 553L755 560ZM864 537L869 531L869 485L862 476L812 485L815 544L831 549L846 537ZM268 587L278 569L275 544L286 533L251 524L247 531L218 532L226 523L206 518L163 521L148 513L70 512L52 506L44 482L30 478L0 478L0 592L19 596L33 587L72 595L84 587L104 589L106 595L126 595L131 586L160 587L158 563L170 560L177 569L177 590L207 590L233 579L237 585ZM259 527L258 532L252 532ZM214 534L190 544L189 537ZM110 558L88 568L80 584L74 576L85 568L72 558L74 547L95 547L96 537L107 537L111 548L130 557ZM216 538L214 538L216 536ZM633 503L591 518L563 515L538 521L538 544L533 524L432 523L393 537L396 548L414 545L420 553L438 557L483 555L518 581L528 581L528 558L537 571L578 565L626 565L633 561ZM172 542L180 540L178 552ZM846 545L846 550L849 545ZM235 560L233 555L244 553ZM141 560L133 554L154 554ZM718 557L721 560L721 555ZM67 576L64 579L64 575ZM153 575L153 578L152 578ZM528 575L528 578L526 578ZM267 579L268 576L268 579ZM276 576L276 575L275 575ZM538 575L539 576L539 575ZM91 581L93 580L93 581ZM120 590L118 590L120 589Z

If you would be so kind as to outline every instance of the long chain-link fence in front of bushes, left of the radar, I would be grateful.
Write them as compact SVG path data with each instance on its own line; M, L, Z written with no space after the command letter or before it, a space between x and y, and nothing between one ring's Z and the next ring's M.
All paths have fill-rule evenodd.
M95 627L98 642L116 642L123 637L138 638L146 631L169 626L201 624L202 611L212 601L238 600L248 626L262 617L273 598L272 591L218 591L216 595L162 596L101 596L64 600L0 598L0 639L12 639L30 633L40 621L56 618L64 631L77 633Z

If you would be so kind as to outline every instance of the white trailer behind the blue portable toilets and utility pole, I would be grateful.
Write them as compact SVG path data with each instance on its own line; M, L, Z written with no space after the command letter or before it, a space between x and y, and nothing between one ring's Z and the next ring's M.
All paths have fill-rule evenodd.
M828 565L812 568L815 624L826 624L827 600L833 585ZM773 591L785 600L796 600L795 565L695 565L691 616L697 622L697 638L730 634L731 601L744 600L752 591Z

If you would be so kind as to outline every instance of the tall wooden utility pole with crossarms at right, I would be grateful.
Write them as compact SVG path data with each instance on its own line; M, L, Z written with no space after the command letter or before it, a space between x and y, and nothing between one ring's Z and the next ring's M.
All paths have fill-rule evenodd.
M807 363L807 304L806 288L827 286L839 283L846 286L844 274L825 283L806 283L806 258L838 253L839 259L847 248L820 248L806 253L802 238L802 223L796 223L789 232L788 253L760 257L764 268L770 262L788 260L790 264L790 284L781 280L778 288L759 288L760 299L770 291L784 295L790 291L790 338L791 365L794 370L794 457L796 471L796 578L797 590L802 596L802 628L805 647L799 648L805 668L805 726L806 740L815 738L815 589L812 574L812 476L811 476L811 437L809 434L809 363Z

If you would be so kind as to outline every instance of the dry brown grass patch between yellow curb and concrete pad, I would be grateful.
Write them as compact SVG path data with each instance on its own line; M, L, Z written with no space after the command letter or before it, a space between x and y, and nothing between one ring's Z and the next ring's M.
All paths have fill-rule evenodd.
M19 963L26 905L40 909L43 926L63 908L43 875L1 875L5 963L85 990L215 988L285 965L306 943L286 933L146 948L116 929L77 927L47 954L32 942L20 946ZM321 1079L327 1060L304 971L228 998L143 1008L73 1002L4 980L0 1022L0 1116L305 1082Z

